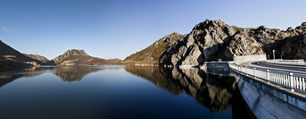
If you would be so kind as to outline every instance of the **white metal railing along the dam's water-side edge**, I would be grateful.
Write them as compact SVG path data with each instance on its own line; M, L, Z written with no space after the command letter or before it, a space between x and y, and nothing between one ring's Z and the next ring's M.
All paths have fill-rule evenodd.
M275 70L251 66L237 65L235 63L230 63L229 67L236 70L239 73L253 76L254 78L259 78L268 82L274 82L279 85L295 90L300 90L305 92L305 79L306 73L298 72L288 72L286 70Z

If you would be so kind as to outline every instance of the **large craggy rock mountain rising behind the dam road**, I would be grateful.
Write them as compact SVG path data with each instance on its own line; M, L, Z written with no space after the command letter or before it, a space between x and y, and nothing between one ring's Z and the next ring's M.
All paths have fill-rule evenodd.
M306 22L287 31L228 26L221 20L206 19L189 34L172 33L124 61L156 61L159 65L196 66L205 61L231 61L233 56L283 55L287 59L306 58ZM280 58L280 57L279 57Z

